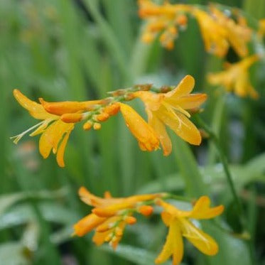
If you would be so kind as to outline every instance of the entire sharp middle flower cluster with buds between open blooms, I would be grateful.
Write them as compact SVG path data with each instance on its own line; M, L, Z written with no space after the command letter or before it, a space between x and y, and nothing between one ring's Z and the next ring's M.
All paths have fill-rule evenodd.
M32 117L42 121L11 139L16 144L28 131L36 129L30 136L41 134L40 154L47 158L53 151L56 153L58 165L63 167L65 146L77 122L85 121L85 130L98 130L103 121L120 111L129 130L139 141L141 150L154 151L159 148L160 143L164 155L167 156L171 153L171 139L165 125L190 144L199 145L201 142L200 132L188 119L188 111L194 112L198 109L207 96L190 94L194 83L193 77L187 75L178 86L173 89L168 87L168 92L165 92L165 87L158 90L159 92L153 92L151 85L136 85L126 90L114 91L112 97L85 102L46 102L40 98L40 103L37 103L19 90L13 90L13 95L21 106ZM132 107L122 103L135 98L140 98L146 105L148 123Z

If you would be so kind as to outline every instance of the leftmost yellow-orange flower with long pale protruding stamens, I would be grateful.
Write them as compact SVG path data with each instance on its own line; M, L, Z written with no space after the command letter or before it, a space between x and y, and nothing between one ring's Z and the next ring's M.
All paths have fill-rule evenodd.
M43 121L18 134L18 136L11 137L11 139L14 139L14 143L17 144L24 134L37 128L30 136L41 134L39 141L40 154L43 158L47 158L50 155L50 151L53 150L53 153L57 154L56 160L58 165L61 167L65 166L63 159L65 146L72 129L74 129L74 124L65 123L60 120L60 116L46 112L41 104L28 99L19 90L13 90L13 95L18 103L28 110L32 117Z

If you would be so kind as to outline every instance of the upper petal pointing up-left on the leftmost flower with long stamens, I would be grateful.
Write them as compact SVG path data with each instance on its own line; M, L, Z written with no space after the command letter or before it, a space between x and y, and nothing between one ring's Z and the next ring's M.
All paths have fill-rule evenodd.
M16 98L19 104L30 112L31 116L35 119L58 119L57 116L49 114L45 111L41 104L33 102L23 95L19 90L13 90L13 96Z

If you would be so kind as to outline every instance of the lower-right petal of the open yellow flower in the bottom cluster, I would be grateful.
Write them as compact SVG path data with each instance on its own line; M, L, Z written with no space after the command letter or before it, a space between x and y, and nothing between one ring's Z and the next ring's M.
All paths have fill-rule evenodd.
M217 254L218 245L215 239L212 239L209 234L202 232L185 218L179 218L178 221L183 237L186 237L200 252L210 256Z

